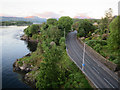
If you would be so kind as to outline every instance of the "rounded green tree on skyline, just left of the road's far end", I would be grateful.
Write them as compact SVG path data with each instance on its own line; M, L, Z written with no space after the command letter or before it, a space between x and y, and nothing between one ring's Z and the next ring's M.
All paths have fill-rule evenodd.
M64 31L65 29L66 34L71 30L72 24L73 24L73 20L69 16L63 16L58 20L59 29L61 29L62 31Z

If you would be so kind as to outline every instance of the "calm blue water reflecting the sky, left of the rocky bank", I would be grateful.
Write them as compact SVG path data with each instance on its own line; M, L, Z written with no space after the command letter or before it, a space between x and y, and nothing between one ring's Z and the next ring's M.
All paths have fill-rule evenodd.
M30 53L28 43L20 40L26 26L0 27L0 47L2 47L2 88L30 88L22 81L22 76L13 72L13 63ZM2 46L1 46L2 45ZM29 47L29 48L28 48Z

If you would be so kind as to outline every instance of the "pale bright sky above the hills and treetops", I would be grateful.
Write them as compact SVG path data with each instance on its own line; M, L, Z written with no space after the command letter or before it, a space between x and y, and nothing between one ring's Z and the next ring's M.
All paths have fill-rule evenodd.
M41 18L96 18L104 17L105 11L112 8L118 15L120 0L0 0L0 16Z

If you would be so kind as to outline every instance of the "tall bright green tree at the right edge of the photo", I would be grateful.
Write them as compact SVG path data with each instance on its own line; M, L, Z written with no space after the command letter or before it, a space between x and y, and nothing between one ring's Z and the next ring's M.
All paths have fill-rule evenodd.
M108 37L108 47L112 51L120 53L120 16L117 16L109 25L110 34Z

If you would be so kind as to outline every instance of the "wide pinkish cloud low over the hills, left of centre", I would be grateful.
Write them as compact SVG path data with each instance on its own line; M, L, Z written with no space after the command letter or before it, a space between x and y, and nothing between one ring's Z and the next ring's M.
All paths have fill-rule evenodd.
M61 15L54 12L44 12L36 14L36 16L39 16L41 18L59 18Z

